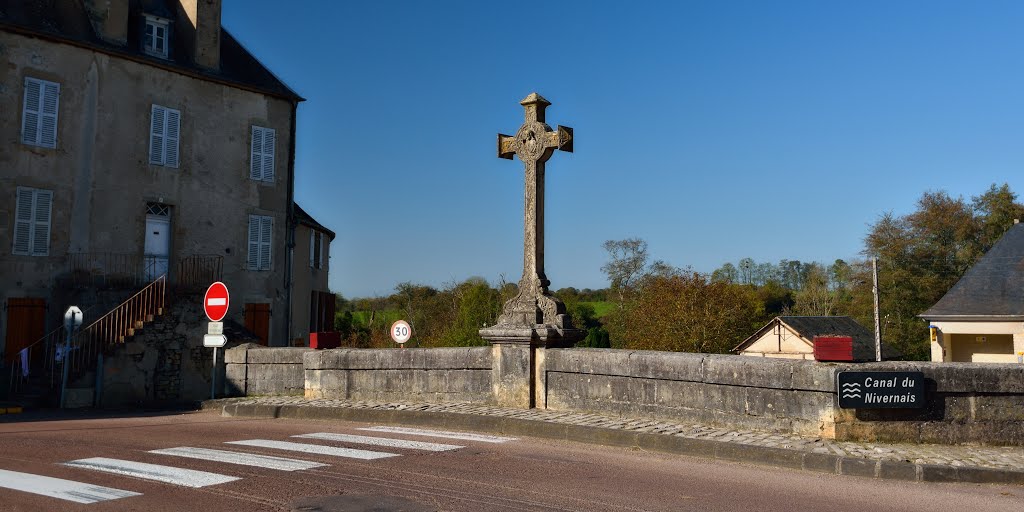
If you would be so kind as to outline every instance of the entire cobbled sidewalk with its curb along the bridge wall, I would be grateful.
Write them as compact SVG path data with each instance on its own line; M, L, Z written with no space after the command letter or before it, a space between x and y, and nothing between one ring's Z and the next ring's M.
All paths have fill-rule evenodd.
M840 442L754 430L475 403L373 402L294 396L203 402L224 416L404 423L629 446L854 476L1024 484L1024 446Z

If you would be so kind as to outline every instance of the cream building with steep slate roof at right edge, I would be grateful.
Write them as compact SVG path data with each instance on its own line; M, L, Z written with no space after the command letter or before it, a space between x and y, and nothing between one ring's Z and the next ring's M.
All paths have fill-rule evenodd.
M1024 355L1024 225L1015 223L921 314L933 361L1017 362Z

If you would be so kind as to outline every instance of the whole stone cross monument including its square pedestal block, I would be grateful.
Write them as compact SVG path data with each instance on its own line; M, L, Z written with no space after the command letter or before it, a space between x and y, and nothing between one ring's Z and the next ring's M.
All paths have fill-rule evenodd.
M537 361L543 350L570 347L586 332L572 327L565 305L548 290L544 274L544 167L555 150L572 152L572 129L552 130L544 122L551 103L532 93L519 102L525 121L515 135L498 134L498 156L519 157L526 172L523 268L519 293L505 303L498 324L480 330L480 337L494 344L495 395L500 404L534 407ZM538 351L540 349L540 352Z

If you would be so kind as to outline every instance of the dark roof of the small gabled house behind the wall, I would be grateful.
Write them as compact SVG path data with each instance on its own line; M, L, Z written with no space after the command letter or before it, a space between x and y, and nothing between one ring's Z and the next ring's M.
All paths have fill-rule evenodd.
M778 325L785 326L810 346L813 346L815 336L849 336L853 338L854 359L874 360L874 335L850 316L776 316L732 351L742 351ZM895 359L901 355L888 343L882 343L883 359Z

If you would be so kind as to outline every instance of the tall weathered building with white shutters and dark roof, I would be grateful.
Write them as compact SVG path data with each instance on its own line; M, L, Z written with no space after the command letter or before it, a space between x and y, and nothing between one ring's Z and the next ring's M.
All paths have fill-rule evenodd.
M303 99L220 12L220 0L0 2L8 360L71 300L100 302L90 288L130 293L161 275L169 289L223 281L226 319L289 344Z

